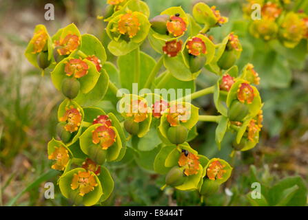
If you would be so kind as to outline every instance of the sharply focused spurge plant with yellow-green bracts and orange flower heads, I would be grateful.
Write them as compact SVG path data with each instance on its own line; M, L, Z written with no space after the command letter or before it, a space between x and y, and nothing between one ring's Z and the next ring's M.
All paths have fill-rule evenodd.
M260 78L252 64L238 71L240 39L234 33L220 43L209 39L206 33L228 19L205 3L194 5L192 14L172 7L151 20L143 1L107 3L107 48L118 56L119 69L106 62L99 39L81 34L74 24L52 37L37 25L25 51L35 67L50 70L54 87L65 97L58 109L57 137L48 143L51 168L62 172L58 184L63 196L76 205L102 203L114 189L107 167L126 157L165 175L162 190L197 190L201 199L217 192L232 167L199 154L189 141L201 121L218 123L219 149L227 131L236 134L234 151L258 143L263 116L255 85ZM145 39L161 54L157 62L139 50ZM157 76L161 67L165 72ZM218 76L216 84L179 96L182 85L176 82L194 83L203 69ZM134 93L133 83L146 92ZM150 90L170 85L175 97ZM214 94L217 115L199 115L190 102L207 94Z

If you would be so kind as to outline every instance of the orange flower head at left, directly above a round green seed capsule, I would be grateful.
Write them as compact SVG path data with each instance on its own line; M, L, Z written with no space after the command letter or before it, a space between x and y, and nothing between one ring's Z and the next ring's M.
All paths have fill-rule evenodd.
M88 74L89 66L81 59L71 59L65 63L64 72L66 76L81 78Z

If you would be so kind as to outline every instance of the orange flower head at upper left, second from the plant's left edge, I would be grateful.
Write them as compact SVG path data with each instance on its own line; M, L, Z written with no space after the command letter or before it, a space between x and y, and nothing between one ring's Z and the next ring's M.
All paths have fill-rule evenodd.
M54 45L59 47L57 51L60 55L68 55L79 47L80 39L76 34L68 34L64 39L55 41Z

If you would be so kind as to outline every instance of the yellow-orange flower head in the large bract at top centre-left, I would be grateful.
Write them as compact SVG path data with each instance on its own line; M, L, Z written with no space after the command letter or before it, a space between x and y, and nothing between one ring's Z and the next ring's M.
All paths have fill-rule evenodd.
M120 34L127 34L130 38L136 36L140 30L138 17L132 13L123 14L118 23Z

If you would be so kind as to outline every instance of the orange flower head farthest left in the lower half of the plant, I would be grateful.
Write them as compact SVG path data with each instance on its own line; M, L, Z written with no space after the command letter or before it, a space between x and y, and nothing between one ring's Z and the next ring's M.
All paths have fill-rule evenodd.
M64 146L55 146L54 152L52 152L51 155L48 155L48 159L53 159L56 161L52 165L54 170L64 170L66 165L68 165L70 156L68 155L68 150Z

